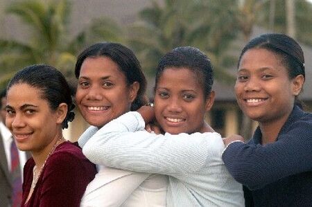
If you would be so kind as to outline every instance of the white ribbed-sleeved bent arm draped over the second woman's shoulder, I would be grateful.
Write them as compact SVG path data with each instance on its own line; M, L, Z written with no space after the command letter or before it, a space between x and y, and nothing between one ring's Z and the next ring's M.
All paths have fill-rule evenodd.
M129 121L130 116L135 117ZM124 114L94 134L83 152L88 159L100 165L137 172L175 174L205 168L209 157L213 156L211 154L219 153L224 147L216 133L156 135L146 131L133 132L143 128L144 121L138 114Z

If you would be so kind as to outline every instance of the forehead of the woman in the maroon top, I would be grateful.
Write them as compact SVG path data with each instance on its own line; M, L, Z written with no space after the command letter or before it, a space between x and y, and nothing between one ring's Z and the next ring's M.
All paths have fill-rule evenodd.
M25 104L42 104L48 102L42 99L42 91L26 83L14 84L7 93L7 105L20 107ZM36 104L36 105L37 105Z

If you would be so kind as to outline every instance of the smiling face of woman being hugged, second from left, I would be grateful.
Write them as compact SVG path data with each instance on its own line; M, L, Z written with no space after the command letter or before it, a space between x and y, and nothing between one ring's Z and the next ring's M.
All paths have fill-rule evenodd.
M102 127L130 111L137 96L133 84L109 57L87 57L78 78L76 102L83 118L90 125Z

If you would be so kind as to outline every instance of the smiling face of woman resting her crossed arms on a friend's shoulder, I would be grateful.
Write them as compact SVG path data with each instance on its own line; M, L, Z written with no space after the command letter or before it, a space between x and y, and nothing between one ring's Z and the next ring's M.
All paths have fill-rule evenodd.
M155 89L155 117L170 134L200 132L213 98L204 98L198 76L186 68L165 69Z

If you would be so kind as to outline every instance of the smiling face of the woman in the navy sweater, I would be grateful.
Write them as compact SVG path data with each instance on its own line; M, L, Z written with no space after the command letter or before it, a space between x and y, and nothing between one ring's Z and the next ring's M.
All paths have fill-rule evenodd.
M252 120L260 123L286 121L301 87L296 78L288 78L286 67L275 53L254 48L241 57L235 84L236 99L243 113Z

